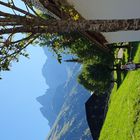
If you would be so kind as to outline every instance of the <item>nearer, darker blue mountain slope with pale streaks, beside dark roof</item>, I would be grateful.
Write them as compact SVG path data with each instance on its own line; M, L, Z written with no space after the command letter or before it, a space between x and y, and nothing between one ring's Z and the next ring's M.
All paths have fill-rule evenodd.
M67 91L65 101L54 122L48 140L92 140L87 126L84 102L87 100L86 90L75 82ZM60 93L61 94L61 93Z

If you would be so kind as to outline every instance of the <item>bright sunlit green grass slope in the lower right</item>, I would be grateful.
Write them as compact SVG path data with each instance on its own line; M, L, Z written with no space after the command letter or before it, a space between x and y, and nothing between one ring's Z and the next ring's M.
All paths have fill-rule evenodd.
M140 62L140 45L134 62ZM112 90L99 140L140 140L140 70L127 73Z

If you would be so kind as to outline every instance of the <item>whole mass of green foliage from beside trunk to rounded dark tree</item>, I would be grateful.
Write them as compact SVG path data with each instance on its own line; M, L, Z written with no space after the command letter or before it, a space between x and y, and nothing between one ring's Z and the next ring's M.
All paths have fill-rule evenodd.
M60 63L63 53L71 54L75 57L73 60L83 63L78 82L86 89L90 91L100 89L100 92L104 92L109 87L111 72L108 67L113 63L113 56L98 50L79 33L46 34L41 36L40 40L40 45L47 45L56 54Z

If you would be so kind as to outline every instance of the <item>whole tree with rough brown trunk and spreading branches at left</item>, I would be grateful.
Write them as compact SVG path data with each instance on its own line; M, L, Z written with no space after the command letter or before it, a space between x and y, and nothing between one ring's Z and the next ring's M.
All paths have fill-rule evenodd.
M78 18L55 19L52 13L46 15L46 8L56 4L51 0L21 0L26 9L23 9L13 0L0 1L0 6L11 9L13 13L0 10L0 69L9 70L13 60L18 61L19 55L28 56L25 48L33 43L39 36L46 33L68 33L79 31L114 32L126 30L140 30L140 19L126 20L84 20ZM50 2L51 1L51 2ZM60 3L59 3L60 4ZM44 16L36 12L34 7L40 9ZM56 8L56 7L55 7ZM58 8L60 12L63 7ZM45 17L45 18L44 18ZM19 33L26 33L16 40Z

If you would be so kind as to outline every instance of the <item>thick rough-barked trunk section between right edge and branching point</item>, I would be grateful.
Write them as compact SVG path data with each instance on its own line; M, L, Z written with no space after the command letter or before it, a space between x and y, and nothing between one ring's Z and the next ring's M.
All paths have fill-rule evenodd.
M50 28L49 28L50 27ZM140 19L128 20L55 20L48 25L49 32L95 31L116 32L140 30Z

